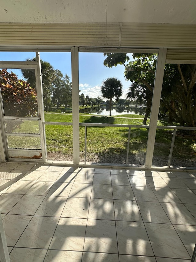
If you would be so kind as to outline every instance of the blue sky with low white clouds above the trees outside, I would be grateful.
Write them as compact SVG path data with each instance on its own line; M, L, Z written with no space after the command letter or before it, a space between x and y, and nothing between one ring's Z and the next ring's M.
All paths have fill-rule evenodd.
M35 57L34 52L0 52L0 61L25 61L27 58ZM49 62L55 69L67 74L71 80L71 53L40 52L40 57ZM131 54L129 54L131 60ZM118 65L113 68L104 66L103 53L79 53L79 89L85 96L101 96L100 86L107 77L117 77L123 84L123 96L125 98L130 81L126 82L124 77L124 66ZM19 77L20 70L13 69Z

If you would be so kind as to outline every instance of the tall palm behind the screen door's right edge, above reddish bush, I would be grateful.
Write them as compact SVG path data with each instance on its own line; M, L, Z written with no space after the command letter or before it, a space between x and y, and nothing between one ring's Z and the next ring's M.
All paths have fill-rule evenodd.
M36 57L32 59L28 58L26 61L36 61ZM46 105L46 112L48 110L48 94L49 88L51 86L52 81L55 79L55 69L53 66L46 62L41 61L41 72L42 72L42 86L43 86L43 98ZM22 76L30 83L31 87L36 88L36 78L35 78L35 71L33 69L21 69Z

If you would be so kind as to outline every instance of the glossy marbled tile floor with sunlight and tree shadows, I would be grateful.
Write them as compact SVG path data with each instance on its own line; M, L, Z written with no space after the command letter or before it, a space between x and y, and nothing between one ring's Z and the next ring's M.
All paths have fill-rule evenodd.
M196 171L0 164L11 262L187 262Z

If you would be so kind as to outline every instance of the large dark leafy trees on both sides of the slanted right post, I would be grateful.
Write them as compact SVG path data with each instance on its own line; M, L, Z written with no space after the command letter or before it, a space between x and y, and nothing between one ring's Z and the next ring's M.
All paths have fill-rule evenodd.
M107 55L107 54L106 54ZM133 54L135 61L125 65L124 56L116 58L115 53L108 54L109 59L104 60L108 67L123 64L125 66L126 80L133 84L127 98L139 101L139 97L146 102L146 114L143 123L151 110L154 76L156 70L156 54ZM180 125L196 125L196 65L165 65L160 109L163 114L169 112L169 120L175 118Z

